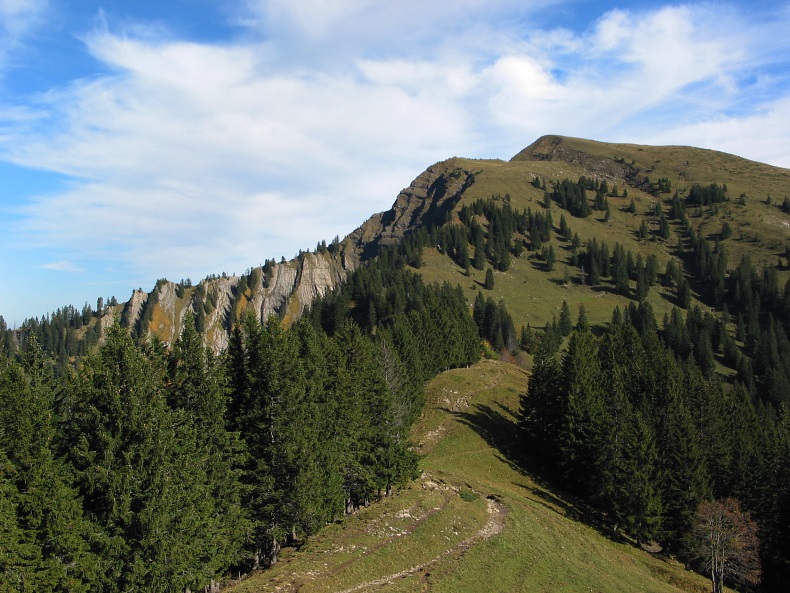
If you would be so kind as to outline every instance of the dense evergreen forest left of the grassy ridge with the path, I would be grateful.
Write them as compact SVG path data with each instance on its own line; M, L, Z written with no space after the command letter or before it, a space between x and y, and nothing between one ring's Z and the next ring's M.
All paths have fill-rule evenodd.
M414 478L423 383L479 336L458 290L380 262L221 357L194 319L171 349L116 324L65 372L32 332L4 355L0 590L196 590Z

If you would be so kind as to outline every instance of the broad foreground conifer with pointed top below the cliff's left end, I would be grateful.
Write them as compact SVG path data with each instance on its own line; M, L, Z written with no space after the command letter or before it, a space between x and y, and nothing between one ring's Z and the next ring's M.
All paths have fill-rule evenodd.
M195 430L167 407L164 376L164 360L116 325L68 394L70 458L106 591L208 584L193 543L215 508Z

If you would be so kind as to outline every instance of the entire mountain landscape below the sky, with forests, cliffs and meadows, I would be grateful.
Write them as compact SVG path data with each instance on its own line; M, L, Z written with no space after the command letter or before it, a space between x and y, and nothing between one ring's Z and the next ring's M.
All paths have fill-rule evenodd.
M544 136L0 317L0 591L785 591L790 170Z

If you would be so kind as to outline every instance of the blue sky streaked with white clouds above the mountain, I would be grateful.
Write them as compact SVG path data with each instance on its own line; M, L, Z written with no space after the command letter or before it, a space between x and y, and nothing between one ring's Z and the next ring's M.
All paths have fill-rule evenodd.
M790 167L790 4L0 0L0 314L241 273L543 134Z

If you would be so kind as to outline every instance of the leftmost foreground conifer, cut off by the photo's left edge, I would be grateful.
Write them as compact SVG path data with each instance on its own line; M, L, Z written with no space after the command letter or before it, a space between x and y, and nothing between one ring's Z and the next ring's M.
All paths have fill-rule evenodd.
M0 566L0 582L16 582L18 590L87 591L99 579L99 559L69 468L56 456L55 389L35 338L23 364L9 363L0 373L0 482L16 503L15 518L5 509L6 553L19 562Z

